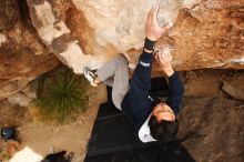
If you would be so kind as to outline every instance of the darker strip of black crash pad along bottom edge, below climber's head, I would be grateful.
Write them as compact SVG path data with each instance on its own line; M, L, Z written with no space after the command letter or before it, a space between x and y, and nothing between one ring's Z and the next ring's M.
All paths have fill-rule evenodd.
M84 162L195 162L179 142L150 142L130 151L87 156Z

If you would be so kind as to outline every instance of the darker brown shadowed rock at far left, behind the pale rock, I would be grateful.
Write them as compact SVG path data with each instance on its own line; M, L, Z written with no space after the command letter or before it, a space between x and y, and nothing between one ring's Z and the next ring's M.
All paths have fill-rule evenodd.
M0 100L60 61L39 39L24 1L0 1Z

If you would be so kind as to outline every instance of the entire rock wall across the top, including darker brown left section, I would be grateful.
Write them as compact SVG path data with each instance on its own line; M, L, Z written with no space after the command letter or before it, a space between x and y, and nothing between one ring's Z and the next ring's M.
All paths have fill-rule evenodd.
M0 98L23 89L58 59L75 73L121 52L135 65L145 17L155 3L160 24L170 19L175 24L156 47L174 48L176 70L244 69L244 0L6 0L0 2Z

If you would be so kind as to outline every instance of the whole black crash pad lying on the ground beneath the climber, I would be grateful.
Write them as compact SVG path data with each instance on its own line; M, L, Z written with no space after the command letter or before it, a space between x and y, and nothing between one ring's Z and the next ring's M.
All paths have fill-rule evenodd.
M165 79L152 79L151 95L167 94ZM108 102L99 108L84 162L194 162L194 159L179 141L142 143L124 114L113 105L108 88Z

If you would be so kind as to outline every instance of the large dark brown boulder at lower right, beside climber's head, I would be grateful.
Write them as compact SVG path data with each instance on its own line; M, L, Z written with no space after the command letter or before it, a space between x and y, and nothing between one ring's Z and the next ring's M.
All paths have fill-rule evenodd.
M179 138L196 162L243 161L244 104L226 98L185 98L179 114Z

